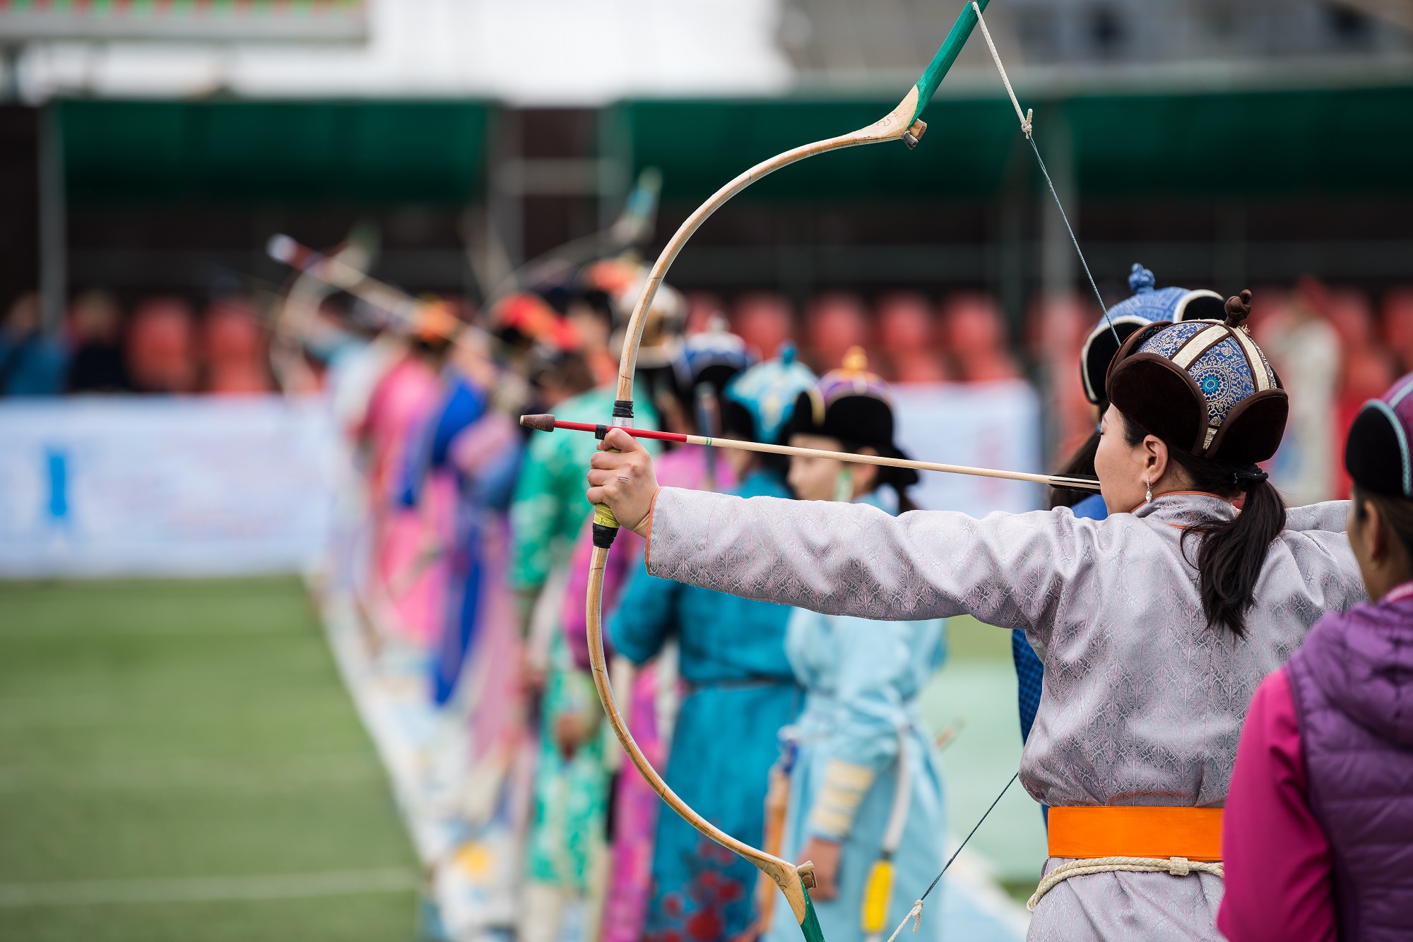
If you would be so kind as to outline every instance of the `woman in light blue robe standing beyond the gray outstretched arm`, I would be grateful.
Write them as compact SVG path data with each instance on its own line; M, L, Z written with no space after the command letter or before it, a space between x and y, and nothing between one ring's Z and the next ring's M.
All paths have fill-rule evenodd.
M797 448L901 458L887 387L853 347L844 367L796 400L783 438ZM917 472L796 456L801 500L913 510ZM942 771L917 699L945 657L937 619L868 621L796 609L786 654L805 688L804 712L780 730L790 777L783 856L814 861L814 908L829 942L879 942L942 867ZM896 874L896 880L894 880ZM941 922L911 942L937 942ZM767 942L800 929L774 907Z

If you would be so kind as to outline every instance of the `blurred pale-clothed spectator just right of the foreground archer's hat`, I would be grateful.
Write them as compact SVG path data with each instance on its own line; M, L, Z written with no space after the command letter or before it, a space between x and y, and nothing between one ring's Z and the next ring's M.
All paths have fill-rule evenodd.
M1291 298L1277 290L1253 292L1251 321L1256 342L1291 391L1286 436L1272 459L1272 482L1294 506L1328 500L1338 458L1330 442L1335 438L1340 335L1307 297Z

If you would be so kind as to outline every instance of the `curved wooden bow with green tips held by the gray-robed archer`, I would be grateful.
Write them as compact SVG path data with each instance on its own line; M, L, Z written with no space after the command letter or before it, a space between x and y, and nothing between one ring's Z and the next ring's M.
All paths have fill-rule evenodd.
M682 222L682 225L673 234L671 240L663 249L663 253L657 257L657 261L653 264L647 282L643 285L643 292L639 295L637 305L633 308L633 315L629 318L623 340L623 356L619 360L617 397L613 403L612 425L627 428L632 428L633 425L633 373L637 369L637 347L643 338L643 326L647 319L647 312L653 305L653 298L657 294L658 285L663 284L663 278L667 275L668 267L671 267L677 254L687 244L687 240L692 236L692 233L695 233L697 229L706 222L708 216L716 212L728 199L743 191L746 186L756 182L762 177L780 169L781 167L788 167L790 164L801 161L807 157L844 150L845 147L859 147L861 144L880 144L883 141L900 140L907 144L909 148L916 147L918 138L923 136L923 131L927 130L927 124L920 121L918 116L923 113L923 109L927 107L927 103L931 100L938 83L941 83L942 76L947 75L952 62L957 61L957 54L961 52L962 45L965 45L966 38L976 25L976 10L986 7L986 0L978 0L978 7L972 7L971 3L966 3L962 7L961 16L957 17L957 23L952 25L951 32L948 32L945 42L942 42L941 48L937 51L937 55L933 56L927 71L923 72L913 88L909 89L903 100L899 102L897 107L892 112L873 124L859 129L851 134L842 134L839 137L831 137L812 144L804 144L756 164L712 193L706 202L698 206L697 210L688 216L685 222ZM721 846L740 854L746 860L750 860L750 863L756 864L756 867L759 867L766 876L774 880L781 893L784 893L786 900L790 902L790 910L800 922L800 928L804 931L805 939L808 942L824 942L824 935L820 931L820 921L815 918L814 904L810 901L810 893L807 888L814 884L812 866L805 863L797 867L787 860L781 860L780 857L774 857L763 850L752 847L750 845L743 843L714 826L705 818L692 811L687 802L678 798L673 789L667 787L663 777L657 774L657 770L653 768L653 765L643 756L643 750L640 750L637 743L633 741L627 723L623 720L623 716L619 713L617 705L615 703L613 688L609 684L609 671L603 655L603 566L608 559L609 547L613 544L613 537L616 534L617 520L613 517L613 511L610 511L605 504L596 504L593 508L593 555L591 561L588 590L589 661L593 668L593 685L598 688L599 700L603 703L603 712L608 715L613 733L617 736L619 743L623 744L623 751L627 753L633 765L637 767L637 771L642 773L647 784L651 785L658 795L661 795L663 801L666 801L673 811Z

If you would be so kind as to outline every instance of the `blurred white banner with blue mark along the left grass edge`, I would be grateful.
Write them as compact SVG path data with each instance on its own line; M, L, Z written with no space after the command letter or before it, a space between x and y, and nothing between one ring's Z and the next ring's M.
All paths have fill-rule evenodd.
M0 576L298 571L324 549L326 403L0 403Z

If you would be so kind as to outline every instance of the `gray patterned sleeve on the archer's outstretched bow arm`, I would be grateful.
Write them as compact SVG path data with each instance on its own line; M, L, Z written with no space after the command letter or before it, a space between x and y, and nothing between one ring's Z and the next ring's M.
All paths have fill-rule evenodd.
M969 613L1044 630L1082 592L1094 521L1070 513L890 517L866 504L732 497L664 487L653 510L653 575L861 619Z

